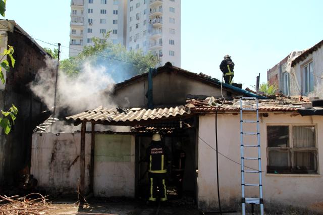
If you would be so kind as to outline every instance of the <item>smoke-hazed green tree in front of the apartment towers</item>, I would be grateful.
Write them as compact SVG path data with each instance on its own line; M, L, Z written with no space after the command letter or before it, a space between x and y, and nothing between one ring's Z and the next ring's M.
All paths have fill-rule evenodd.
M150 52L146 55L140 49L138 51L127 51L122 44L113 44L108 41L109 33L105 39L93 37L92 46L84 46L83 51L76 57L70 57L61 61L60 68L69 75L77 75L85 61L90 64L103 65L113 72L122 68L127 74L134 76L148 72L149 67L154 67L158 60Z

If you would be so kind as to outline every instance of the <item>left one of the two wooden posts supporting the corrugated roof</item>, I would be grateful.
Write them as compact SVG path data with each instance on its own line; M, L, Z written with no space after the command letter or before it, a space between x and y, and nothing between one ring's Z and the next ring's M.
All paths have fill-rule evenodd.
M82 122L81 127L81 145L80 145L80 193L81 197L84 197L84 184L85 184L85 131L86 131L86 122Z

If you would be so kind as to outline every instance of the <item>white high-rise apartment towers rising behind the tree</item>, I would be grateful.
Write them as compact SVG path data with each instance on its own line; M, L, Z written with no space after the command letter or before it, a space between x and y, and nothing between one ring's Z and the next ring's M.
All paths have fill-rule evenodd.
M157 66L181 66L181 0L72 0L70 56L108 31L128 50L151 51Z

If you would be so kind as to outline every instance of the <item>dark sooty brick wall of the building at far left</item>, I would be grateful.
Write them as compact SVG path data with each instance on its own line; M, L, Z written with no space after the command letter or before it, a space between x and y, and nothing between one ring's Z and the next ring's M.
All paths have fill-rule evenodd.
M13 28L8 21L0 22ZM2 130L0 134L0 185L12 185L18 180L19 172L30 164L32 119L44 111L44 105L32 94L28 83L33 81L37 71L45 66L44 60L47 55L26 36L16 31L10 32L4 26L1 28L2 39L7 38L8 41L1 43L1 50L6 44L14 46L13 56L16 60L15 67L5 73L5 88L2 86L2 90L0 89L2 110L8 110L15 104L19 111L10 134L5 135Z

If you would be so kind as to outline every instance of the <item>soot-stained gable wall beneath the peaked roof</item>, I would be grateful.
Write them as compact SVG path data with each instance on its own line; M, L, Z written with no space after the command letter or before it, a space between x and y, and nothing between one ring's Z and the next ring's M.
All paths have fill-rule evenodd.
M153 77L153 103L155 106L176 106L186 104L187 95L205 95L221 97L221 90L176 72L163 72ZM148 81L141 80L118 89L113 96L118 106L146 107L145 94ZM224 96L227 91L223 90ZM235 96L232 94L232 96Z

